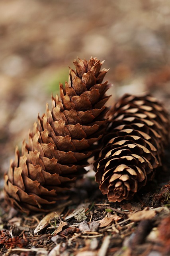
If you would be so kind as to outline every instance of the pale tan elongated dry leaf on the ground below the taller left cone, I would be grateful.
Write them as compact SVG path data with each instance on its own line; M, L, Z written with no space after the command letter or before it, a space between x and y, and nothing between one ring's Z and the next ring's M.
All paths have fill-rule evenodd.
M59 215L63 212L63 210L64 210L64 207L60 208L57 212L55 211L55 212L50 212L49 214L47 214L39 222L38 226L35 228L34 234L38 233L40 230L45 228L53 218L59 218Z

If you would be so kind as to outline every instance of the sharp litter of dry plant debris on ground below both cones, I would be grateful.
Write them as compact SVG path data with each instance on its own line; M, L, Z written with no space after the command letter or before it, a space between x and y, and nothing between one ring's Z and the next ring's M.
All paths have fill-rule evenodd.
M93 181L88 182L94 186ZM162 186L158 198L168 188ZM94 191L97 189L95 185ZM137 198L109 204L100 194L93 196L93 201L89 197L81 204L70 202L49 214L29 216L15 211L12 215L2 198L5 214L1 219L0 255L168 255L170 210L163 204L167 201L155 199L154 192L139 196L141 200L145 197L147 206ZM82 212L86 220L81 220Z

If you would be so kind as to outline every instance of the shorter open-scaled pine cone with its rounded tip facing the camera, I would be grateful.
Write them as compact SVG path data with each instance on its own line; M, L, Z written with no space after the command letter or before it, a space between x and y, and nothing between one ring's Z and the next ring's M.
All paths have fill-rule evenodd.
M168 114L155 98L125 94L112 117L100 152L96 181L110 202L132 199L154 177L168 142Z

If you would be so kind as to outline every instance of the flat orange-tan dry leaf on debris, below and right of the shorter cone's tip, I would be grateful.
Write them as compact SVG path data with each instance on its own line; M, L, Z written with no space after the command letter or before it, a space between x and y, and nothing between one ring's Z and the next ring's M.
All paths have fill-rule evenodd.
M143 210L129 214L128 217L132 221L151 220L156 215L156 210Z

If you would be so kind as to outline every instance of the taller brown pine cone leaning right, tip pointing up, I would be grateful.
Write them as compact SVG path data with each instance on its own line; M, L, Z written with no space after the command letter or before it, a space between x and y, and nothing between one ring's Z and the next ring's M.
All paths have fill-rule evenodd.
M34 124L22 153L16 148L14 162L5 174L4 191L8 203L20 211L49 211L68 198L65 194L84 173L93 144L106 126L105 102L109 98L107 73L100 71L97 58L74 61L69 80L60 85L61 101L52 97L52 110Z

